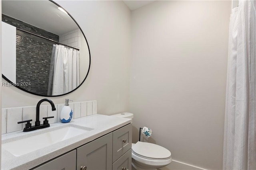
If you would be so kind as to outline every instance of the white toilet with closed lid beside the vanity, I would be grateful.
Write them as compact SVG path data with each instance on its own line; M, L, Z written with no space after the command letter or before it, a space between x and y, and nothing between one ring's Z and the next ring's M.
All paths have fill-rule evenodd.
M128 112L112 116L133 118L133 114ZM132 143L132 170L156 170L171 162L171 152L164 147L140 141Z

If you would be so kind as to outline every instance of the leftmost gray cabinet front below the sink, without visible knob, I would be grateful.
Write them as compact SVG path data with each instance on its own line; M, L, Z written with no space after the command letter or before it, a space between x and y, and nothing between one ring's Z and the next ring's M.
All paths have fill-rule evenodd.
M68 152L34 170L75 170L76 169L76 150Z

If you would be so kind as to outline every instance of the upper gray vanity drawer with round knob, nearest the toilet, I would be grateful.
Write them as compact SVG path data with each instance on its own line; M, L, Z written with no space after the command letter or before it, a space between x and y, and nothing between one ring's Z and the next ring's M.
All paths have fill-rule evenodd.
M132 124L113 132L113 163L132 147Z

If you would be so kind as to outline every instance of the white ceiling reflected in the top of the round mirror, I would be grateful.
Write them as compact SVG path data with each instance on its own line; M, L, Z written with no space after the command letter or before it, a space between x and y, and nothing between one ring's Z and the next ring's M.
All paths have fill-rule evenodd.
M78 29L68 14L46 0L2 0L2 13L56 35Z

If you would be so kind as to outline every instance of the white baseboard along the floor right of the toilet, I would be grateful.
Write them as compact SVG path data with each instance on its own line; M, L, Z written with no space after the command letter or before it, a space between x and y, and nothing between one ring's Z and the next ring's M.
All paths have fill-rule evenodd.
M163 168L160 168L160 170L206 170L206 169L200 168L198 166L186 164L184 162L180 162L177 160L172 160L172 162L169 165Z

